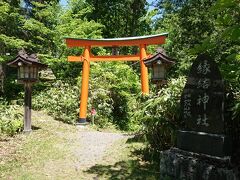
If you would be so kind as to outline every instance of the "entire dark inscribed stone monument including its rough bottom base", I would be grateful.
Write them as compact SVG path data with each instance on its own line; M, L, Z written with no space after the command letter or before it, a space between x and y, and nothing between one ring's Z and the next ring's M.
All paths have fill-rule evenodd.
M225 87L217 64L207 55L194 61L181 96L176 147L161 154L161 179L237 180L231 165Z

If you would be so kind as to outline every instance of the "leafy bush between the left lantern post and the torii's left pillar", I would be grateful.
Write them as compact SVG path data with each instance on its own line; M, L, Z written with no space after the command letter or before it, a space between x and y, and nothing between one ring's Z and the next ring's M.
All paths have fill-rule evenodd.
M45 110L63 122L75 123L79 107L78 89L69 83L56 81L50 88L33 96L33 109Z

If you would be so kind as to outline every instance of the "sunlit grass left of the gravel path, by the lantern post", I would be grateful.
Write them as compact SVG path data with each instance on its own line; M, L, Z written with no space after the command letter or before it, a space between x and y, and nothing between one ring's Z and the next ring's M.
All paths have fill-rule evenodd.
M34 113L35 130L29 135L19 134L4 142L6 151L0 156L0 179L46 179L55 176L50 172L55 163L67 158L68 148L64 135L72 133L74 126L54 121L43 113ZM3 141L1 142L3 144ZM15 145L11 145L15 144Z

